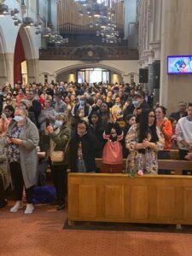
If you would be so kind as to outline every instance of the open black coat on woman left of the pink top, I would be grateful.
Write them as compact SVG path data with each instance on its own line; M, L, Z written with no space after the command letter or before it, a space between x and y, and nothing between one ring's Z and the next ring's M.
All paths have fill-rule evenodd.
M100 148L96 137L88 131L83 137L77 134L73 136L70 143L70 166L72 172L78 172L77 160L79 143L82 143L82 153L86 172L96 172L95 150Z

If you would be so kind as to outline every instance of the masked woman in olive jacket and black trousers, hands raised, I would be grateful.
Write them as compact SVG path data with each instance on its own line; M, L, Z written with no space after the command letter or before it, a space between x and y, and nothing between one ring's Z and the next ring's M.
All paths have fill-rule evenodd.
M49 134L50 146L49 155L51 152L64 151L65 157L62 162L51 161L50 167L56 190L56 201L52 205L58 205L57 210L65 208L65 196L67 195L67 167L69 164L69 141L71 137L71 129L67 123L67 116L63 113L58 113L55 116L55 125L48 125L46 132Z

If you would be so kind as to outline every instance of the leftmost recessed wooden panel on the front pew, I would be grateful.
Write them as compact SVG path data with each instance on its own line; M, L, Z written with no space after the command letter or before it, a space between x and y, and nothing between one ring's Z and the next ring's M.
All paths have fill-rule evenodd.
M79 185L79 214L96 217L96 186Z

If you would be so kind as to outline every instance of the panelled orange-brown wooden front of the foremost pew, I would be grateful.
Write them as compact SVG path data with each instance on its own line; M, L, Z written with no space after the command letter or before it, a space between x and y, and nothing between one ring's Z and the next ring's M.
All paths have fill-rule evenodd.
M192 224L192 177L69 173L68 220Z

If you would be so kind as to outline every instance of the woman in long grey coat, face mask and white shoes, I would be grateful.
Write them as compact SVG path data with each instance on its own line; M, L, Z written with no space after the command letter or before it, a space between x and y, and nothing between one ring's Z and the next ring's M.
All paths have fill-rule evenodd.
M38 182L38 129L27 118L26 110L17 108L15 118L11 121L8 131L1 143L7 147L7 161L9 170L15 186L16 202L10 212L17 212L23 207L23 187L26 190L25 213L32 213L32 187Z

